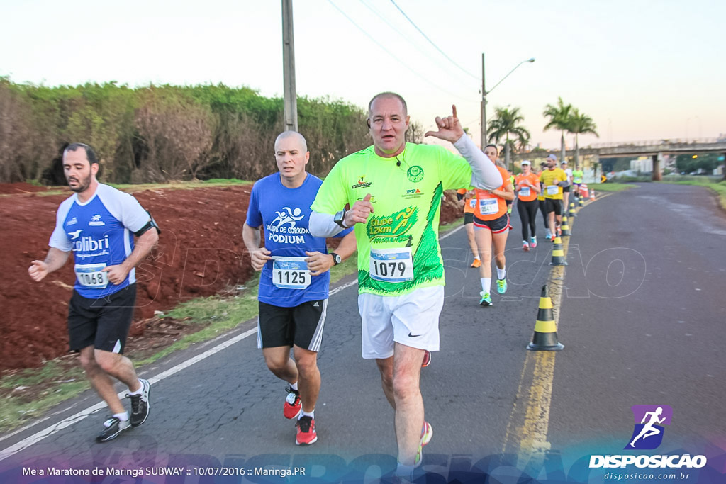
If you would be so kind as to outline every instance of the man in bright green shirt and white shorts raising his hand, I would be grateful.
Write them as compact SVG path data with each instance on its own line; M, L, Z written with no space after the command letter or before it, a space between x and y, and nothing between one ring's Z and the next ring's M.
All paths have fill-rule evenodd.
M437 145L407 143L409 115L399 94L373 97L367 123L373 146L333 167L311 206L309 229L330 237L354 226L363 358L378 364L395 412L397 474L408 475L432 434L419 377L425 352L439 350L441 194L470 186L496 189L502 176L465 135L456 107L453 115L436 118L439 131L425 136L451 141L463 157Z

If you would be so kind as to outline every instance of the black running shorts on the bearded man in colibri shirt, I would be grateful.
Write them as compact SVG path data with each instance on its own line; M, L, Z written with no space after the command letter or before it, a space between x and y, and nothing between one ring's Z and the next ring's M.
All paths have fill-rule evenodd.
M70 350L87 346L123 354L136 307L136 284L101 299L83 298L73 291L68 303Z

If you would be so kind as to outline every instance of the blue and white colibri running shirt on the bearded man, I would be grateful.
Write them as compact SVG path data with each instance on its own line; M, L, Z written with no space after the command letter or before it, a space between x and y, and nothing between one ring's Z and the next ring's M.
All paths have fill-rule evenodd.
M102 269L123 263L131 255L134 232L149 220L149 214L133 196L99 184L91 200L81 203L74 193L60 204L48 245L63 252L73 251L73 288L78 294L83 298L104 298L136 282L135 268L121 284L109 282Z

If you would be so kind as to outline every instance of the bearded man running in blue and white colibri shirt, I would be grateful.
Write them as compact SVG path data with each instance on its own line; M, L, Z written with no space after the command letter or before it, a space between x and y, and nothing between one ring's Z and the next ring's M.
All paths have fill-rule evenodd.
M158 241L146 210L130 194L96 179L96 153L82 143L63 152L63 171L75 192L60 204L50 250L33 261L28 274L40 282L68 261L73 251L76 284L68 304L70 349L80 353L86 377L111 413L98 442L116 438L149 416L150 384L123 356L136 301L136 266ZM134 240L134 236L136 239ZM129 387L131 417L118 399L113 380Z

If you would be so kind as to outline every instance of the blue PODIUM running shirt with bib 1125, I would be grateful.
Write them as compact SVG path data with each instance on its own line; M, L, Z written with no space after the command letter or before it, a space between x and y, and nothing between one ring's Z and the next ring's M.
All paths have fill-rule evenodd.
M298 188L287 188L280 173L260 179L252 187L247 224L264 226L264 245L272 261L267 261L260 276L258 299L266 304L293 308L312 300L327 299L330 271L310 276L303 262L308 252L327 254L324 237L308 231L310 205L322 180L307 174ZM351 229L335 237L344 237Z

